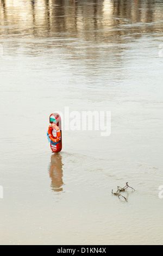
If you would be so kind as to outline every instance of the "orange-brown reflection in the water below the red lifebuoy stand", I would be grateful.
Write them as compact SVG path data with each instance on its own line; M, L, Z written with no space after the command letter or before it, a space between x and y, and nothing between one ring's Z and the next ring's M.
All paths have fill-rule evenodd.
M63 191L62 185L64 185L64 182L62 180L62 166L62 156L60 154L53 154L51 156L51 163L49 166L49 177L52 180L51 188L55 192Z

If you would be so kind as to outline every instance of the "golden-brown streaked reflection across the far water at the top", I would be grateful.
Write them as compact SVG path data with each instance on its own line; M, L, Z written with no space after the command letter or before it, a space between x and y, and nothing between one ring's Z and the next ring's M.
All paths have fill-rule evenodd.
M151 0L1 0L0 25L7 22L15 26L8 34L29 35L33 31L37 36L62 36L66 33L69 38L106 41L110 36L162 31L161 7L162 1Z

